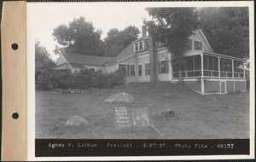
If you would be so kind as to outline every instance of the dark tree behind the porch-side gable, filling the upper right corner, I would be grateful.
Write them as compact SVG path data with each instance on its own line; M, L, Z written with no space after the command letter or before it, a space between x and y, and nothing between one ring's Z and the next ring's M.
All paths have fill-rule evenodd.
M243 7L202 8L201 29L215 53L249 57L249 17Z

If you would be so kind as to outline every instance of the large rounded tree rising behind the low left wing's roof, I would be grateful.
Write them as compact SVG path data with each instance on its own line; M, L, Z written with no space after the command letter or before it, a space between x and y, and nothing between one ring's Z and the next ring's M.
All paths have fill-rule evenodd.
M65 46L65 51L82 55L103 55L101 34L84 17L74 19L68 26L58 26L53 32L55 40Z

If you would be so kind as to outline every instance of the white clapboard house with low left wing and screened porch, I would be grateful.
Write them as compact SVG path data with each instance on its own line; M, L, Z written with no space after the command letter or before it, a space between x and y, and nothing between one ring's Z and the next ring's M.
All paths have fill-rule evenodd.
M178 81L178 72L172 67L171 54L162 43L153 41L143 26L143 36L132 42L115 57L61 54L55 70L71 72L88 68L92 71L114 72L122 69L131 82ZM245 60L213 52L207 38L198 29L189 38L185 57L187 65L182 71L183 82L203 95L245 91Z

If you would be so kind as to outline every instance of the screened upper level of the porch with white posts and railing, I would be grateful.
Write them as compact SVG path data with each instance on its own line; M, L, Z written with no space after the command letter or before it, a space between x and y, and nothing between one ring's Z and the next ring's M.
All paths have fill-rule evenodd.
M226 78L245 79L244 60L210 53L189 55L182 69L182 78ZM203 75L202 75L203 73ZM178 70L173 67L173 78L178 78Z

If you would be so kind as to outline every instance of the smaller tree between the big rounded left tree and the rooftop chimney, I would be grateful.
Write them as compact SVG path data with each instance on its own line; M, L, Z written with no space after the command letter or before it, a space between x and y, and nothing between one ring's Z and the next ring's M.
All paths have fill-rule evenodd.
M119 31L116 28L110 29L107 33L107 38L104 39L105 55L118 55L119 52L138 38L139 33L136 26L128 26L123 31Z

